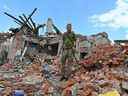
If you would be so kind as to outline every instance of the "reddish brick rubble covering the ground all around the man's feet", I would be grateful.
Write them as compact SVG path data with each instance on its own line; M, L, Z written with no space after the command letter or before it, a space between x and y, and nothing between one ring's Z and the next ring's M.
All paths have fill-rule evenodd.
M92 53L92 57L79 61L80 70L74 71L68 81L60 81L61 64L56 56L50 58L51 63L48 64L38 54L30 64L3 64L0 70L2 96L12 94L14 90L23 90L27 96L100 96L101 93L116 90L120 96L127 96L125 49L115 45L93 49L96 52ZM93 66L95 64L102 67Z

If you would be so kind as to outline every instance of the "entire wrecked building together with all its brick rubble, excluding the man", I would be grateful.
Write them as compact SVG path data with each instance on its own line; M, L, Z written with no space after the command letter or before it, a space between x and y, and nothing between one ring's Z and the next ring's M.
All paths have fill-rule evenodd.
M112 44L106 32L76 34L77 63L69 80L60 81L62 32L50 18L36 24L36 10L19 19L5 13L20 27L0 33L0 96L128 96L127 42Z

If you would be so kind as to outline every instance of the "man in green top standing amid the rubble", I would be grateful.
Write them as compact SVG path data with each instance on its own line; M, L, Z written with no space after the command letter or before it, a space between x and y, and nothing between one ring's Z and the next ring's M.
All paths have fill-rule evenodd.
M72 25L67 24L67 32L63 34L63 52L62 52L62 68L61 68L61 80L68 80L71 75L71 66L73 59L75 58L75 42L76 36L72 31Z

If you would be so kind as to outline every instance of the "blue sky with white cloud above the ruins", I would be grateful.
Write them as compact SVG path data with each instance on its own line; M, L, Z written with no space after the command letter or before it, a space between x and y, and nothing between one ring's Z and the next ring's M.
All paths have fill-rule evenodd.
M128 0L0 0L0 31L17 27L4 12L18 18L34 8L34 21L43 24L50 17L62 32L72 23L76 33L107 32L112 40L128 39Z

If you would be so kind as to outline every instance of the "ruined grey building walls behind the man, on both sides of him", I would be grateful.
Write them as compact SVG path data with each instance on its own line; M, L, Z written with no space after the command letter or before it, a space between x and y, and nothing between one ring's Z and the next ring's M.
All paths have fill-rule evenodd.
M37 25L31 17L35 11L36 9L29 15L29 17L25 14L23 14L23 16L19 16L20 19L5 13L21 26L19 28L11 28L11 33L1 33L1 47L3 47L3 45L7 47L8 56L5 59L8 59L10 64L14 63L14 59L23 60L25 56L31 57L36 54L41 55L42 57L61 55L61 31L54 25L50 18L46 24ZM40 28L44 29L45 27L46 32L44 35L39 35ZM4 44L4 42L9 45ZM85 55L91 52L91 48L93 46L102 43L110 43L108 35L105 32L92 35L90 37L78 35L76 42L76 50L78 52L77 58L84 58ZM4 47L1 48L1 50L4 50ZM1 55L2 60L4 60L3 57L4 56Z

